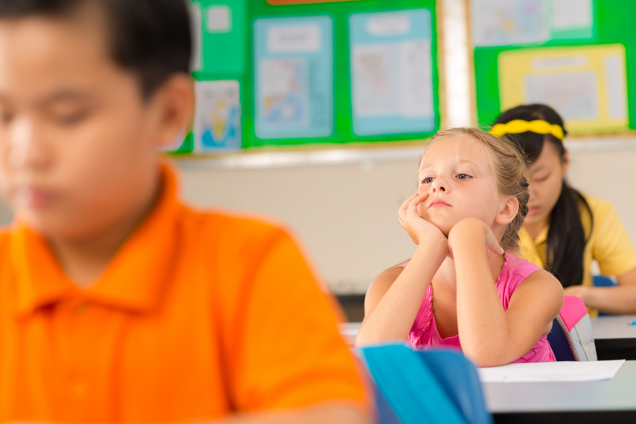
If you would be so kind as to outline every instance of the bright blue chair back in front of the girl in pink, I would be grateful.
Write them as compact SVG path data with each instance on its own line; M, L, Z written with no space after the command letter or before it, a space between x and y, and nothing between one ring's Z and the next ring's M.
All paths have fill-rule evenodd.
M492 423L477 371L461 353L413 352L404 345L367 347L361 353L382 394L380 423L395 422L382 410L387 405L404 424Z

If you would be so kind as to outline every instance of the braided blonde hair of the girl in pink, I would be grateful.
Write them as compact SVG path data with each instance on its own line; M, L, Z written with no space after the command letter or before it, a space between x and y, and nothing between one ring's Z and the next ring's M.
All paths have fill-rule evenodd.
M466 137L487 147L485 151L490 159L490 167L492 168L495 182L497 182L499 195L513 196L519 202L519 209L515 219L504 229L499 244L504 250L518 250L519 236L517 233L523 226L525 215L528 214L528 200L530 199L527 171L529 163L527 159L508 137L495 137L479 128L472 127L450 128L449 130L439 131L431 137L426 147L424 147L422 158L424 158L426 151L432 144L446 137Z

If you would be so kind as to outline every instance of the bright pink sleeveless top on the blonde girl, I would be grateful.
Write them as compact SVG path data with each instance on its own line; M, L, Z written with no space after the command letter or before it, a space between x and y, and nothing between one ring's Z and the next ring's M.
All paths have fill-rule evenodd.
M407 264L404 264L404 268L406 268ZM504 266L501 270L501 274L499 274L499 278L497 278L496 284L497 293L499 293L499 299L501 299L501 303L504 305L504 310L508 310L510 297L518 285L537 270L541 270L541 268L527 261L523 261L523 259L519 259L513 254L506 253L506 260L504 261ZM413 327L411 327L411 332L408 334L408 341L411 343L413 349L441 347L462 350L462 346L459 344L459 335L445 339L439 336L435 325L435 318L432 313L432 295L432 285L429 285L422 300L422 306L420 306L417 317L415 317L415 322L413 322ZM537 344L530 349L530 352L514 360L512 363L553 361L556 361L555 355L552 352L550 343L548 343L547 336L544 334L539 341L537 341Z

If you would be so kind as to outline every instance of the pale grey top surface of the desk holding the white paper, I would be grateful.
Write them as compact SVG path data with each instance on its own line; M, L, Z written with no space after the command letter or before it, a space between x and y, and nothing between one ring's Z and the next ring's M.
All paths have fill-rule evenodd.
M492 413L636 410L636 361L610 381L577 383L484 383Z

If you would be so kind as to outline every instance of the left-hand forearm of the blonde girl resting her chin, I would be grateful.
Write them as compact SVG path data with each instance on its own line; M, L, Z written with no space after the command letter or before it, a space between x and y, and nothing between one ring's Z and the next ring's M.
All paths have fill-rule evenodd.
M446 249L440 243L422 243L410 263L396 278L377 306L364 317L356 337L359 343L406 340L426 289L441 263Z

